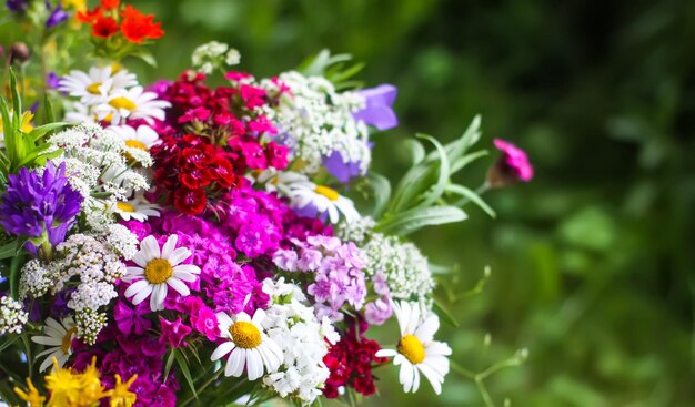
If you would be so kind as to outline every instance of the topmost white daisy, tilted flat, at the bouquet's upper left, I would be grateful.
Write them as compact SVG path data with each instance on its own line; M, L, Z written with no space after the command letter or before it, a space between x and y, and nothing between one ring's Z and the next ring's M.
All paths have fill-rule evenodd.
M113 91L138 84L135 74L127 70L113 72L111 65L92 67L89 72L71 71L58 82L58 90L80 98L84 104L92 105L107 101Z

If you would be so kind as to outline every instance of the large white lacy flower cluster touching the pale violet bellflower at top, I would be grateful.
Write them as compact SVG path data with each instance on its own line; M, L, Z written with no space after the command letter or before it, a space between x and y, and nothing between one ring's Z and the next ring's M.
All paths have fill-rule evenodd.
M265 106L263 113L278 128L291 157L304 162L303 171L315 173L326 156L339 152L344 162L360 163L365 174L372 160L369 130L353 118L364 106L364 98L356 92L339 93L328 79L299 72L282 73L278 81L261 81L271 98L279 94L281 84L290 94L284 93L279 105Z

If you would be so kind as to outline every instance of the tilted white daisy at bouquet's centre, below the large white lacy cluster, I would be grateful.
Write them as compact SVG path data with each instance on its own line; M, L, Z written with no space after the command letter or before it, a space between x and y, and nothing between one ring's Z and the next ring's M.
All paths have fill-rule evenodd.
M299 181L289 184L288 189L291 205L303 215L328 215L331 223L338 223L341 214L346 222L360 217L354 203L329 186L316 185L311 181Z

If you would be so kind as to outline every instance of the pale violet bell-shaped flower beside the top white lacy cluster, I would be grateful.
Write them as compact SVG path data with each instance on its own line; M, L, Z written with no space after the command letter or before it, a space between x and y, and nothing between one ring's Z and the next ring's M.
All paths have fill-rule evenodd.
M399 118L393 112L393 102L399 93L396 87L384 83L376 88L363 89L357 93L365 99L365 106L353 113L355 120L382 131L399 125Z

